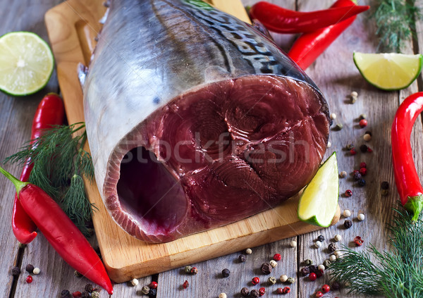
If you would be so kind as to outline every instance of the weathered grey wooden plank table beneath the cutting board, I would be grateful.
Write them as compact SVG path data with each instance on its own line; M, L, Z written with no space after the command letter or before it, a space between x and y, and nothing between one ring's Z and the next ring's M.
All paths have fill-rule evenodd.
M230 1L230 0L228 0ZM44 26L44 13L51 7L59 4L60 0L20 0L8 1L0 0L0 35L10 31L32 31L36 32L47 40L47 32ZM253 4L256 0L244 0L245 4ZM273 0L276 4L281 4L286 8L307 11L317 8L326 8L333 0L307 1L307 0ZM423 1L419 1L421 4ZM360 4L372 5L372 1L359 0ZM271 276L278 278L286 274L295 278L295 284L291 285L290 294L286 297L314 297L314 293L326 283L327 273L324 278L315 282L310 282L306 278L300 277L298 271L301 262L305 259L312 259L314 262L322 263L329 258L326 249L334 235L340 234L343 237L339 244L354 247L352 242L355 236L364 238L364 246L355 248L363 250L370 242L380 249L387 248L385 224L391 218L391 207L398 199L396 187L393 181L393 169L391 165L391 141L390 128L393 115L407 95L422 89L422 79L414 82L407 89L400 92L381 92L367 82L365 82L353 63L353 51L375 52L377 39L375 38L374 21L369 20L369 13L364 13L357 18L355 23L345 31L340 38L334 42L316 63L307 69L307 73L317 83L324 92L329 102L331 113L336 113L335 123L342 123L341 132L331 131L329 138L332 146L327 150L326 156L333 151L338 153L339 170L346 170L351 173L358 167L360 162L365 161L369 173L366 176L367 185L357 187L351 178L340 180L341 194L345 190L353 190L353 197L346 198L341 195L339 201L341 210L350 209L353 216L353 228L345 230L341 217L338 225L312 232L307 235L281 240L262 247L252 248L253 253L247 256L245 263L238 263L239 254L222 256L203 263L192 264L199 269L195 276L185 275L183 270L176 269L140 279L137 287L128 284L114 286L113 297L140 297L142 285L147 285L152 280L159 283L157 297L202 297L214 298L219 293L226 292L228 297L240 297L240 289L253 287L250 280L254 276L262 279L266 287L266 297L276 296L276 288L283 287L278 282L276 285L266 285L269 275L262 275L259 267L265 261L269 261L275 253L283 256L282 261L274 269ZM405 51L407 54L419 53L423 46L422 24L417 24L417 41L410 41ZM288 47L293 42L295 36L276 37L276 40ZM359 94L355 104L350 104L348 95L356 91ZM0 94L0 159L9 156L23 145L30 138L30 126L35 108L47 92L60 92L56 75L51 77L47 87L41 92L30 97L13 98L6 94ZM369 125L367 128L360 128L357 118L360 114L367 114ZM358 153L350 156L345 146L348 143L359 147L363 144L363 135L366 130L373 133L372 141L367 143L374 151L372 154ZM423 176L423 125L419 118L412 132L412 147L414 149L415 161L419 175ZM20 167L7 165L6 168L15 175L19 175ZM390 183L390 192L387 197L382 197L380 193L380 183L382 181ZM27 247L19 248L18 242L11 230L11 210L13 204L13 185L3 176L0 177L1 201L0 205L0 293L2 297L60 297L60 292L68 289L71 292L80 290L82 292L86 283L85 278L76 278L73 269L69 267L60 256L52 249L43 235L39 236ZM356 217L358 213L364 213L365 221L359 222ZM326 238L321 249L313 247L314 240L318 235ZM290 242L295 240L298 246L290 247ZM25 266L31 263L41 268L41 273L34 276L31 284L25 283ZM189 260L187 263L190 263ZM20 266L23 273L16 279L11 275L11 268ZM231 271L229 278L221 278L221 270L228 268ZM181 285L184 280L188 280L190 287L183 290ZM1 294L0 294L1 295ZM107 297L105 291L101 292L101 297ZM328 297L357 297L341 292L333 291Z

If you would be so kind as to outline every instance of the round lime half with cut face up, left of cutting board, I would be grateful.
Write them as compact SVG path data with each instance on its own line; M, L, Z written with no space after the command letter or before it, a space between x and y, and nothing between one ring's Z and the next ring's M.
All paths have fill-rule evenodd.
M54 68L47 42L32 32L10 32L0 37L0 90L13 96L42 89Z

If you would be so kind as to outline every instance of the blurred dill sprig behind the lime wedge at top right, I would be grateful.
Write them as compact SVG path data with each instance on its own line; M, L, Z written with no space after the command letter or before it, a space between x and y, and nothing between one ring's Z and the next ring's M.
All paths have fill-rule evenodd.
M415 0L376 0L376 35L378 50L400 53L405 42L415 36L415 22L422 18Z

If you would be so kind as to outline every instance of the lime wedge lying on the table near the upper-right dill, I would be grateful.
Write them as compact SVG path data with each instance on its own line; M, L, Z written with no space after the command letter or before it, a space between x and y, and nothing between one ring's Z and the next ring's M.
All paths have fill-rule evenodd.
M379 89L410 86L422 70L422 55L354 53L354 63L367 82Z

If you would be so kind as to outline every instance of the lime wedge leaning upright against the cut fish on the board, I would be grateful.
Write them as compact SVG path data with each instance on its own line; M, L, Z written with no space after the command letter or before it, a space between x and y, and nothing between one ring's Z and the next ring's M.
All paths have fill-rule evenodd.
M338 163L333 152L302 192L298 218L312 225L329 227L338 206L338 195Z

